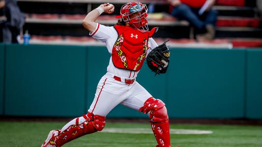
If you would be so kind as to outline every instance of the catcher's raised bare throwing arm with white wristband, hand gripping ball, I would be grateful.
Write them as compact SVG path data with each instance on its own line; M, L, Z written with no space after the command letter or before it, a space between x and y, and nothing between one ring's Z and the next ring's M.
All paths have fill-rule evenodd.
M95 21L103 12L108 14L113 13L114 5L110 3L104 3L101 4L99 7L97 7L96 9L89 12L82 23L85 29L87 29L89 32L93 32L96 28Z

